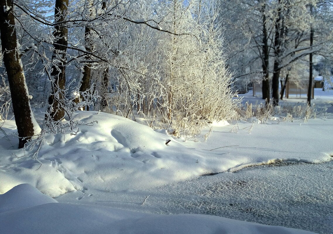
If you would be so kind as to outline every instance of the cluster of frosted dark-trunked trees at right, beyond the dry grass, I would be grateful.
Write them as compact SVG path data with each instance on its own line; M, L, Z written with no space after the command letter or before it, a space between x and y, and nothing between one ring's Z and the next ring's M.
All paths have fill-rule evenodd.
M332 1L220 2L220 14L226 22L226 39L234 50L229 53L228 60L230 67L235 70L235 78L248 82L249 78L250 81L255 80L251 74L260 74L258 76L262 77L263 98L269 98L272 89L273 105L278 105L279 95L282 97L284 92L279 92L279 81L282 81L282 90L287 82L286 78L280 76L281 69L293 67L292 63L307 58L310 54L325 54L325 57L330 57L327 42L331 41L331 36L327 32L332 28L332 20L328 20L332 16ZM310 13L311 5L316 9L316 14ZM316 32L312 44L310 27ZM260 67L256 60L261 61ZM268 85L270 74L271 87ZM288 72L284 74L290 78Z

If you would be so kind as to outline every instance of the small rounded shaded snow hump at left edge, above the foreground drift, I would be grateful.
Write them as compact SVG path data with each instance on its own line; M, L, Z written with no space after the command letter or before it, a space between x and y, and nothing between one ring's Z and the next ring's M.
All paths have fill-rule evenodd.
M0 213L54 202L58 201L41 193L32 185L23 183L0 195Z

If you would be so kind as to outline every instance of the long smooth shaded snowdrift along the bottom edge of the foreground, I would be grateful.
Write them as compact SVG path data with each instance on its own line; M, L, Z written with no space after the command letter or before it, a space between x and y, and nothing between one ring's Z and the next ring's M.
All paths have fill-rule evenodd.
M17 217L20 217L19 219ZM268 226L200 214L158 215L114 208L49 203L0 213L6 234L58 233L168 233L168 234L311 234L292 228Z

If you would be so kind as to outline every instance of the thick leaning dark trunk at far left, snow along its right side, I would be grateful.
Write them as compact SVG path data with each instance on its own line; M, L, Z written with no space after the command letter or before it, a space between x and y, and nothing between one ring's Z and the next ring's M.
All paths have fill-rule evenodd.
M3 61L7 70L7 77L12 97L15 123L19 136L19 148L34 135L33 116L30 108L28 89L17 48L13 2L0 0L0 33ZM5 9L7 11L5 11Z

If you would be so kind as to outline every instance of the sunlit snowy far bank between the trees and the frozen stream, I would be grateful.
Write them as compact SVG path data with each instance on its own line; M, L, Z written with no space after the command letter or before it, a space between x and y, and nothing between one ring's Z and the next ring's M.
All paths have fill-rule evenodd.
M0 178L4 181L0 182L0 194L21 183L29 183L51 197L72 191L86 193L89 189L121 193L272 160L319 163L331 160L332 155L328 143L331 137L320 138L328 130L321 127L323 120L269 127L252 126L246 121L226 125L221 121L212 124L214 129L207 142L202 137L202 142L176 141L165 130L154 131L103 112L78 111L74 121L79 123L75 132L45 137L38 156L42 164L25 157L24 150L8 150L8 141L0 139L0 149L4 149L0 157ZM12 122L6 121L4 127L12 129ZM235 126L237 134L232 132ZM278 141L272 140L272 132ZM308 135L317 141L309 144Z

